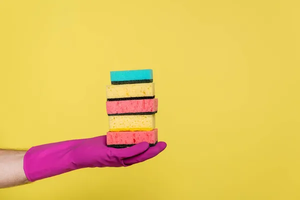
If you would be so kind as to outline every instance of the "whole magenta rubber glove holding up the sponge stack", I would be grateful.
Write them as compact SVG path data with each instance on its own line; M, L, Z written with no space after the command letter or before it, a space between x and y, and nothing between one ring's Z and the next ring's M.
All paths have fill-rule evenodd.
M24 155L24 172L29 181L85 167L129 166L156 156L166 147L163 141L149 147L140 142L131 147L106 146L106 135L33 146Z

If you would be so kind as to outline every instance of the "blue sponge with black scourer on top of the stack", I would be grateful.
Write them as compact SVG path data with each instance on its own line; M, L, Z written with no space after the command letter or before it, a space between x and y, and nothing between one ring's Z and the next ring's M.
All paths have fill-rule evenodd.
M111 84L153 82L152 69L110 71Z

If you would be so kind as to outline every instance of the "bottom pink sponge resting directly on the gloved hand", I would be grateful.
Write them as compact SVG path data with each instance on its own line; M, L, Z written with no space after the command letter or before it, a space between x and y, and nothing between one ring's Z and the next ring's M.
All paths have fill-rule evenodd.
M106 134L108 147L128 147L142 141L148 142L149 146L154 146L157 143L157 128L150 131L108 131Z

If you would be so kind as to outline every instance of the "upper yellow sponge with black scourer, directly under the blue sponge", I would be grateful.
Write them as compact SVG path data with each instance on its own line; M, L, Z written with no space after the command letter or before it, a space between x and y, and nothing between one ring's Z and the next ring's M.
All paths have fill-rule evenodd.
M107 100L154 98L154 83L117 84L106 86Z

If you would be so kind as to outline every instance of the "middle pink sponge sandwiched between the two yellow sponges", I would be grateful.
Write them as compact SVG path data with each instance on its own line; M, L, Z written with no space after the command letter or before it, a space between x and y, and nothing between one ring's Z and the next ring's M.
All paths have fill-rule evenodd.
M108 115L154 114L157 106L157 98L106 101L106 112Z

